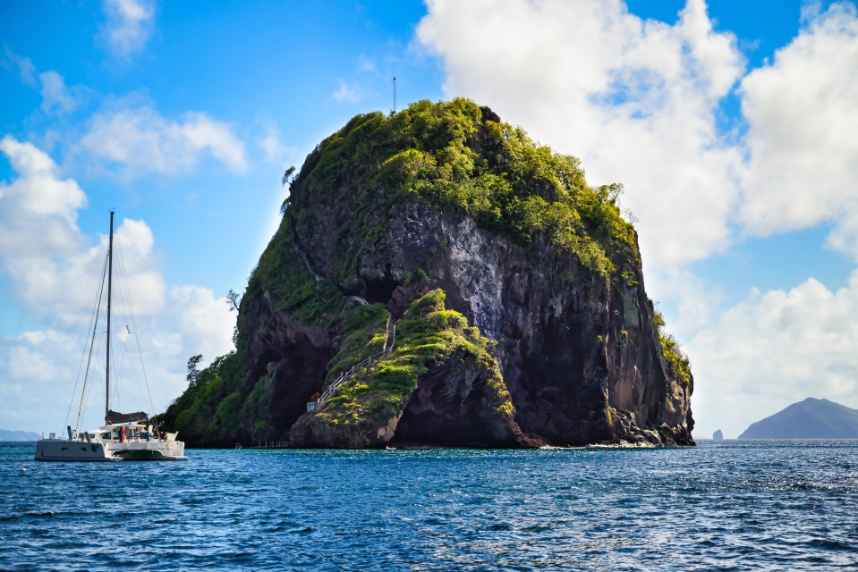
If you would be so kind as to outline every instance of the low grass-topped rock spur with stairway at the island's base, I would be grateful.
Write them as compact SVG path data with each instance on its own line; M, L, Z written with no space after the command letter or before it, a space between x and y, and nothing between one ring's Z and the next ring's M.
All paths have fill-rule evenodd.
M513 420L490 341L448 310L445 298L444 290L430 290L415 300L395 343L386 328L386 349L350 369L335 396L293 425L292 444L530 446Z

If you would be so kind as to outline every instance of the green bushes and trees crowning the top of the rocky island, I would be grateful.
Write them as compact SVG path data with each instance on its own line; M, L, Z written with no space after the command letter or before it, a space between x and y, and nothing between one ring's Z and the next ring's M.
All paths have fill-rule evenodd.
M543 235L601 276L615 270L614 254L638 257L633 226L616 204L621 185L590 187L578 159L538 145L463 98L356 115L310 153L294 185L357 206L339 229L338 239L352 248L337 268L343 275L353 271L348 261L384 239L385 210L415 199L470 214L523 246ZM310 222L302 213L298 220L303 234Z

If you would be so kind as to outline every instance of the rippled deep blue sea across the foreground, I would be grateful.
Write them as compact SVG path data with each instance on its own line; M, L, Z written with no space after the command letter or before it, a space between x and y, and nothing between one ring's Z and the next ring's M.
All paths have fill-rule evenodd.
M0 570L858 569L858 441L33 452L0 444Z

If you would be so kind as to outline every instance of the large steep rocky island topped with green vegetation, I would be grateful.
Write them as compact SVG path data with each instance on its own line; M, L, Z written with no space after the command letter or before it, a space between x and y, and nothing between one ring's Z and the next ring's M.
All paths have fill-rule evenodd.
M290 175L235 351L161 416L189 444L694 444L621 186L465 99L357 115Z

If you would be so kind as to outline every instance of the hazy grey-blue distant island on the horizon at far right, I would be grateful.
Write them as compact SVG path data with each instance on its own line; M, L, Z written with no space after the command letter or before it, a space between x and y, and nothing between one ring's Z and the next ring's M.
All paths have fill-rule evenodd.
M739 439L858 439L858 409L809 397L753 423Z

